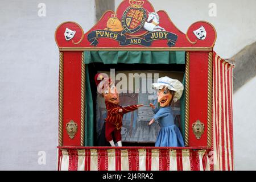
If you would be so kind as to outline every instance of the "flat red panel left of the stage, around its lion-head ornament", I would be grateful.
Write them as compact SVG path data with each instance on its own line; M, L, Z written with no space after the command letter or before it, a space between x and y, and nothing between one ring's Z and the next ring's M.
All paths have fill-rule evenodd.
M63 145L80 146L81 135L81 55L82 52L64 52L63 85ZM77 123L75 138L70 139L66 124Z

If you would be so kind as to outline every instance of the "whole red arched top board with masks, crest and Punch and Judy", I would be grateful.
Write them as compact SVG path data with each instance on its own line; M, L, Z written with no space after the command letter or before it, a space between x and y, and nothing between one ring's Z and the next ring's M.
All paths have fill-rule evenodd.
M76 22L61 23L55 39L60 49L211 48L216 30L209 22L198 21L184 34L166 11L156 12L149 1L123 0L115 12L106 11L86 33Z

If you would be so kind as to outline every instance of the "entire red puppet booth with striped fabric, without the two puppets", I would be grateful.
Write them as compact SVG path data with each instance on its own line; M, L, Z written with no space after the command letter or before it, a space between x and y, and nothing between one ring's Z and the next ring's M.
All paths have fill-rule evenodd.
M75 22L60 24L58 170L233 170L233 65L214 52L216 38L204 21L181 32L147 0L122 1L86 33ZM139 78L119 94L122 105L143 104L123 116L122 147L101 140L107 111L94 76L102 72L117 81ZM184 147L154 147L159 126L148 122L155 93L141 88L156 76L184 85L172 106Z

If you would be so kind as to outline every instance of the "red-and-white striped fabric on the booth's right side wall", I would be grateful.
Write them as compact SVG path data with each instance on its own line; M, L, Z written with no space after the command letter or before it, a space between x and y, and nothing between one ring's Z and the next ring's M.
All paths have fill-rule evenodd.
M233 170L233 68L213 53L213 151L214 170Z

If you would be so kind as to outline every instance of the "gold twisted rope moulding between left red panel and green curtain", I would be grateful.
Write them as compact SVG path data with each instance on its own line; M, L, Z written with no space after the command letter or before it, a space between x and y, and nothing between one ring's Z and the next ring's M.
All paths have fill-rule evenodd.
M84 134L85 134L85 64L84 64L84 52L82 52L81 58L81 146L84 146Z

